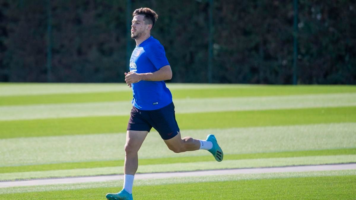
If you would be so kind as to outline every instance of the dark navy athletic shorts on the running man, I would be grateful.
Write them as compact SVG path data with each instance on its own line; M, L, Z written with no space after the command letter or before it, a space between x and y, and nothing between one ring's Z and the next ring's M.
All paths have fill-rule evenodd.
M127 131L151 131L155 128L163 140L169 140L179 132L173 102L157 110L139 110L132 106Z

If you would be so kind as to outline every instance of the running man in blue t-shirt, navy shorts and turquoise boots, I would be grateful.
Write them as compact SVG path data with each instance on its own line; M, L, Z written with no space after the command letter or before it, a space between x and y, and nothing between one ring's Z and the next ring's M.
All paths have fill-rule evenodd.
M132 88L133 106L126 132L124 188L119 193L106 194L109 200L132 199L137 152L152 127L175 153L206 149L218 162L224 156L214 135L208 135L206 140L181 138L172 94L164 83L172 78L171 66L163 46L151 36L158 15L149 8L140 8L132 16L131 38L136 40L136 48L130 58L130 72L125 73L125 81Z

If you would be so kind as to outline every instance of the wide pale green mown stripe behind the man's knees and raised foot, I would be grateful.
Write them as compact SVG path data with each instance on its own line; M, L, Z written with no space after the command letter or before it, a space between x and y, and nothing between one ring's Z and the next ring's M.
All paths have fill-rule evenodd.
M215 134L226 155L355 148L356 144L356 123L186 130L182 137L205 139L210 133ZM108 133L3 139L0 167L121 160L125 138L125 133ZM157 132L146 137L138 155L140 159L211 156L204 150L173 153Z

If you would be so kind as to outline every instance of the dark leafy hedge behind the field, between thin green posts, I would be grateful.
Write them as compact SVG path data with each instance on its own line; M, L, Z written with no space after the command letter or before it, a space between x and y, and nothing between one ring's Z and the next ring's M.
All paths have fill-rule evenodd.
M123 81L126 4L51 0L52 81ZM152 35L171 81L207 82L208 1L132 0L139 7L159 15ZM356 84L355 0L299 0L298 10L298 82ZM214 0L213 15L214 83L292 83L293 1ZM0 81L47 81L47 37L47 0L0 0Z

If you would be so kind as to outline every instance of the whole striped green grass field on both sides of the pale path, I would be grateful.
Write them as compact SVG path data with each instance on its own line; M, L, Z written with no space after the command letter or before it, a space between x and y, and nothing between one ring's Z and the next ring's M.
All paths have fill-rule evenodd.
M356 162L356 86L167 86L182 136L215 134L224 161L175 154L152 130L138 173ZM122 174L131 99L124 84L0 83L0 181ZM121 187L0 188L0 199L105 199ZM355 199L356 170L139 180L133 190L135 199Z

